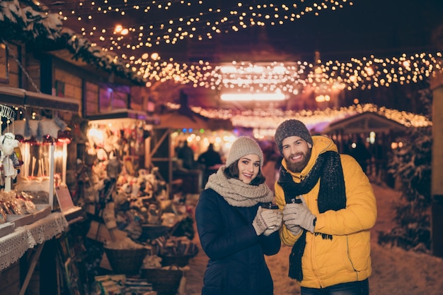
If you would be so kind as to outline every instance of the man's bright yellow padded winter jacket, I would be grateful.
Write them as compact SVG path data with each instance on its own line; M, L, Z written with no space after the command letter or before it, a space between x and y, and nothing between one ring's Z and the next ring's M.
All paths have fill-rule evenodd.
M326 151L338 151L333 140L326 136L313 136L311 159L301 173L292 174L300 182L311 171L318 155ZM304 196L306 205L316 215L314 231L330 234L333 239L323 239L321 234L306 233L306 247L301 258L303 280L301 287L324 288L334 284L355 282L371 275L371 244L369 229L376 221L376 200L372 185L357 161L349 155L340 155L346 188L345 209L318 212L317 198L320 182ZM286 161L282 165L287 168ZM284 192L275 183L275 199L280 210L285 205ZM285 226L280 229L280 238L287 246L299 239Z

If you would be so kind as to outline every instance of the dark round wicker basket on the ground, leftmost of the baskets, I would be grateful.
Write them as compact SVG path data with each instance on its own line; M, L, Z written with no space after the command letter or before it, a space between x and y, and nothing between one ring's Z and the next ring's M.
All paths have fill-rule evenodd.
M143 259L151 252L150 248L129 238L108 243L103 248L113 272L125 275L138 275Z

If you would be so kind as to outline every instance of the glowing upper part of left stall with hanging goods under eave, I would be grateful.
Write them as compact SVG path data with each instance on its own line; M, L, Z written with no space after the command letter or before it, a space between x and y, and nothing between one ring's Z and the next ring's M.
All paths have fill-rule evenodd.
M20 141L23 159L13 188L31 193L36 203L53 207L54 188L66 183L67 146L71 143L63 117L78 112L79 104L18 88L0 88L0 103L13 109L14 116L2 121L2 132L13 133Z

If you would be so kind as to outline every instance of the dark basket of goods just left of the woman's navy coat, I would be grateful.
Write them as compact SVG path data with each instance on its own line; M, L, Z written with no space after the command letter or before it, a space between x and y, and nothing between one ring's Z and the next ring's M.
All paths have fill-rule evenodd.
M190 258L198 253L195 243L185 236L171 236L161 248L161 265L178 265L184 267L189 264Z

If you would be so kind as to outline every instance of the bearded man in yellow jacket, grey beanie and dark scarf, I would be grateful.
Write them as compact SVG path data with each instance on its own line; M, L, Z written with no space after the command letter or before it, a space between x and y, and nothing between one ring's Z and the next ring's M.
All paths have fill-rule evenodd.
M283 156L275 200L283 212L280 239L292 246L289 277L302 295L369 294L376 200L366 174L301 121L282 122L275 143Z

